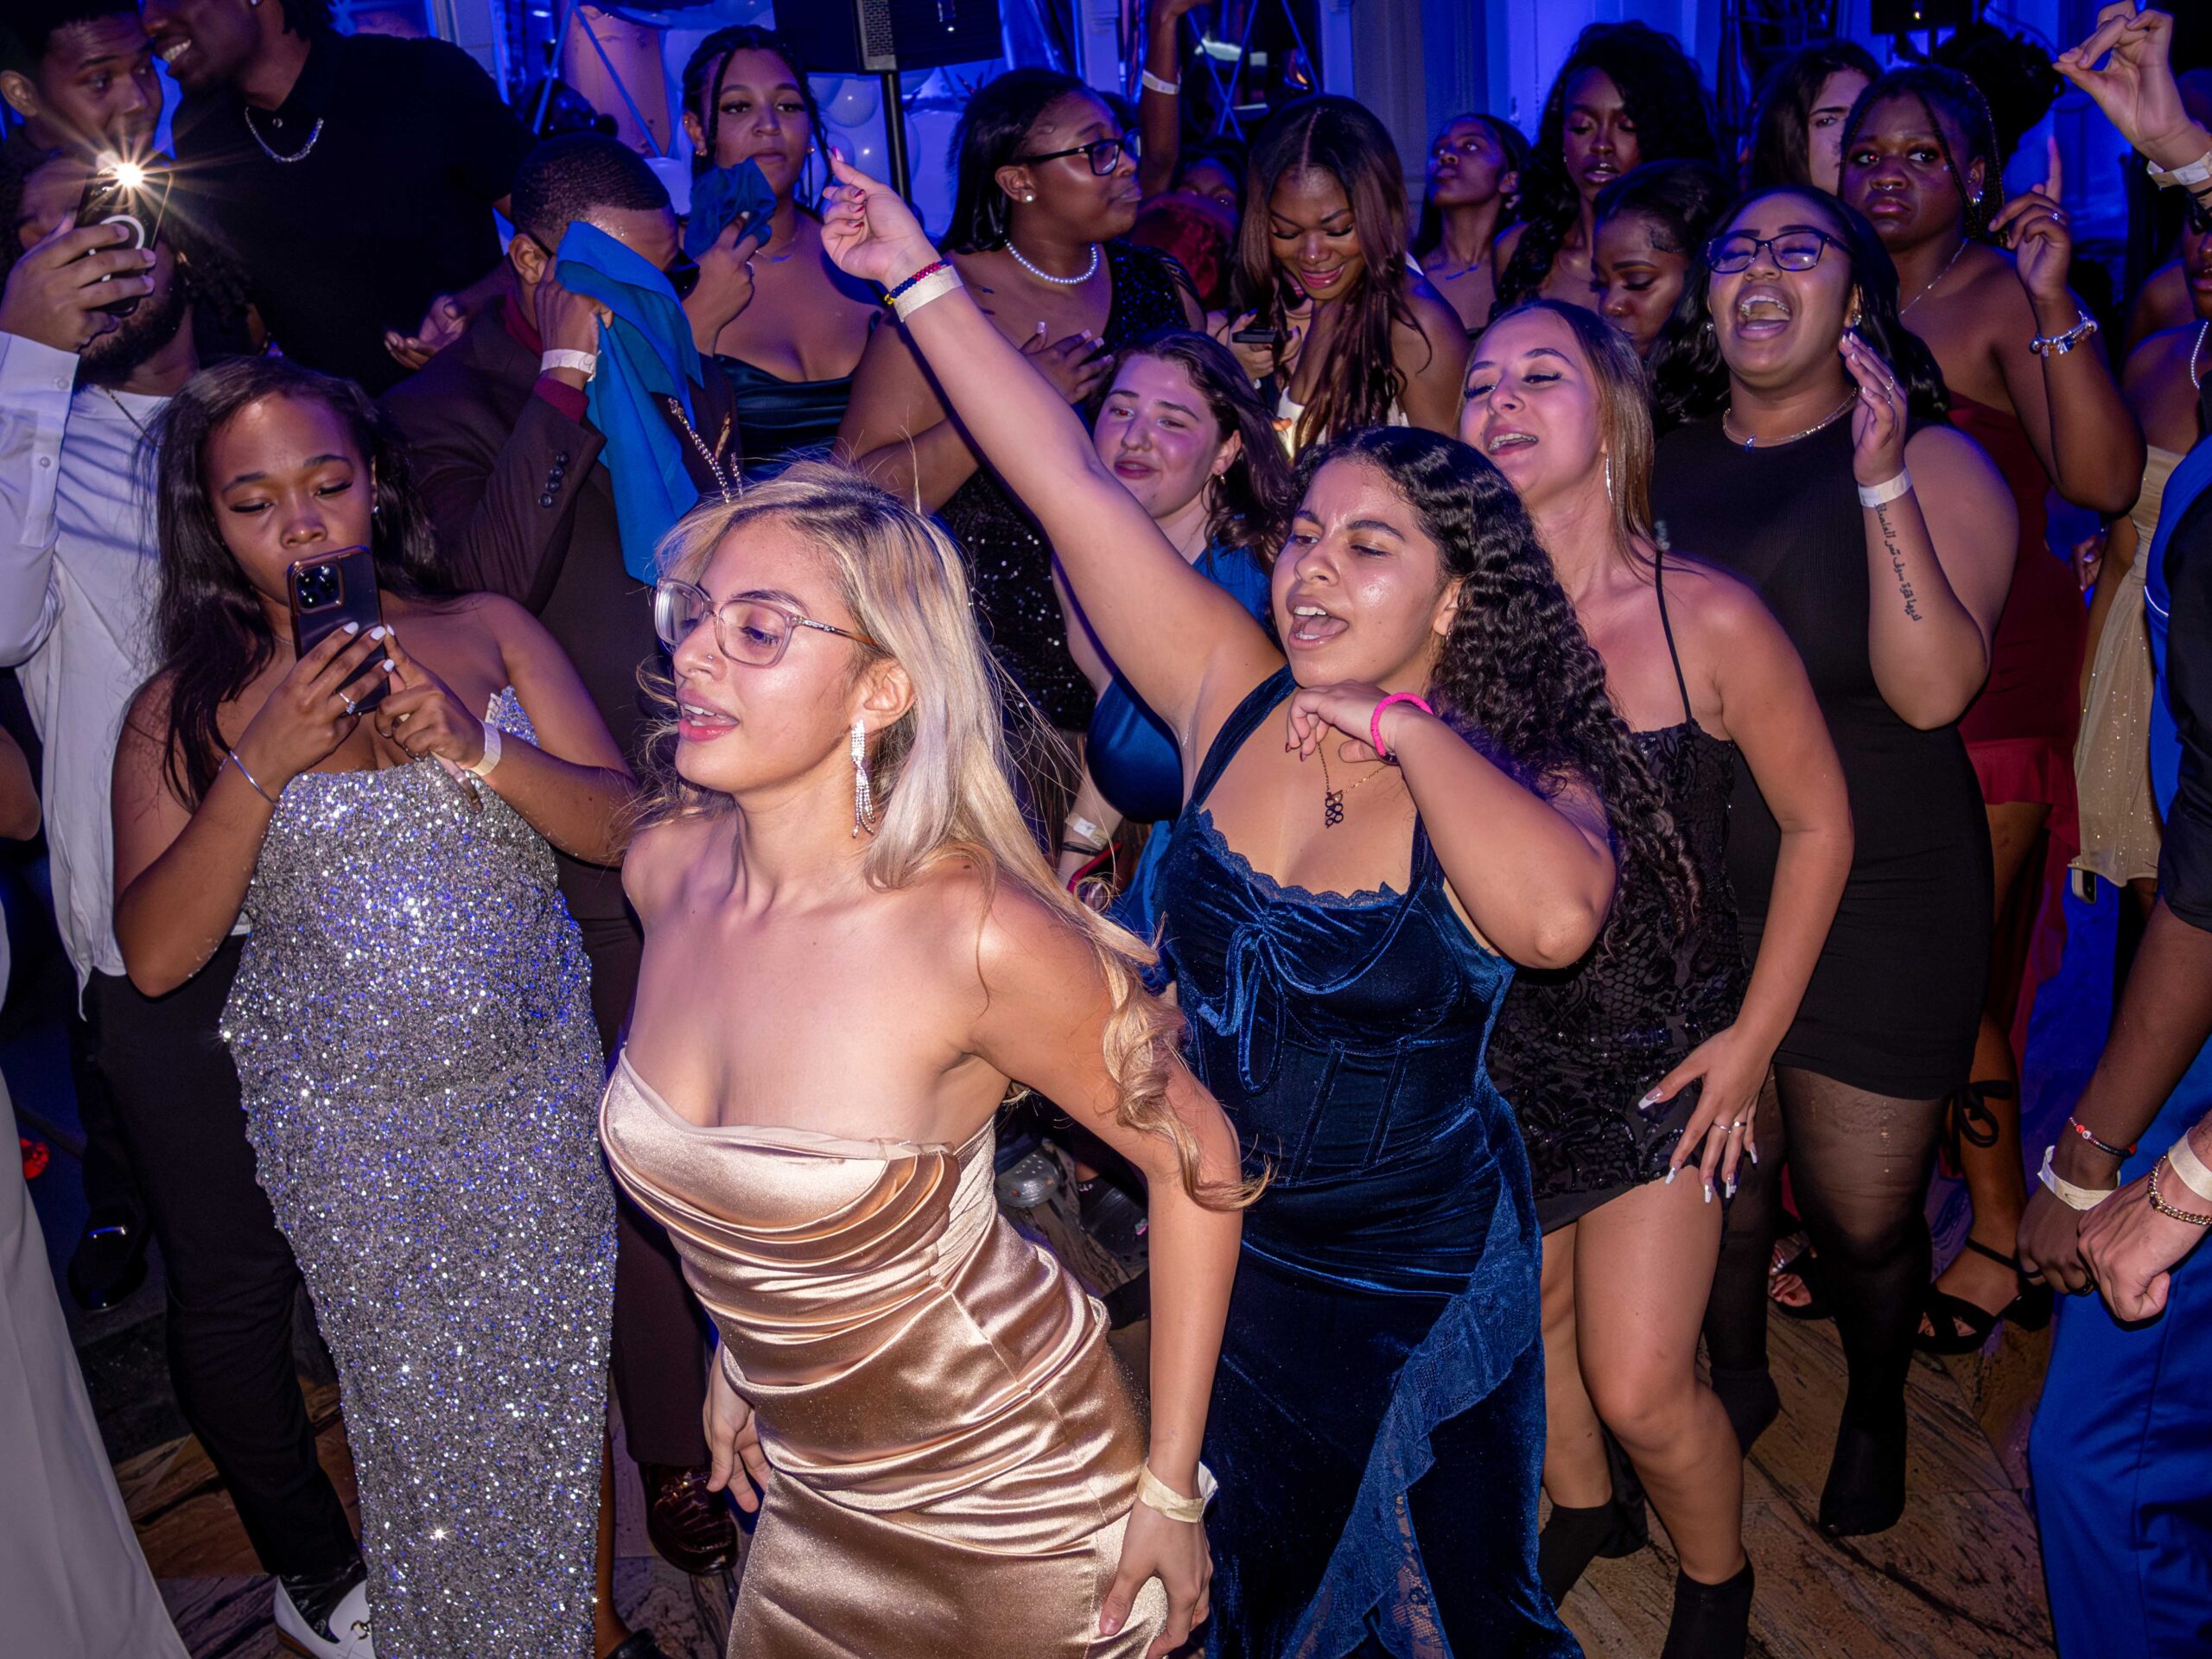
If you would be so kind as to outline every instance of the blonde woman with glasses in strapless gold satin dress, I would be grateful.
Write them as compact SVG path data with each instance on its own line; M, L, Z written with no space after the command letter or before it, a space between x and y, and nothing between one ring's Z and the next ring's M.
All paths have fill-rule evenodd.
M664 546L675 759L599 1115L721 1327L714 1486L761 1522L732 1659L1159 1659L1206 1619L1199 1442L1237 1139L1029 838L960 553L801 465ZM1029 1086L1150 1183L1150 1420L993 1203ZM759 1486L759 1498L752 1489Z

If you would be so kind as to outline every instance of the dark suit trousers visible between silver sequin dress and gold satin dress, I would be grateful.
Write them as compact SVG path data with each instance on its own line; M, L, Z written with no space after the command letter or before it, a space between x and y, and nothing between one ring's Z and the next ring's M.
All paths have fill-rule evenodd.
M608 1064L637 995L644 936L628 916L586 918L591 1011ZM668 1232L615 1190L615 1398L637 1462L703 1467L706 1323Z

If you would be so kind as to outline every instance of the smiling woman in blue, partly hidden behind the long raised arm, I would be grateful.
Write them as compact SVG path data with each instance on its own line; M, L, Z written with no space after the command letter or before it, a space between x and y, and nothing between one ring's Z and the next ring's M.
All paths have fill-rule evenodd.
M1190 568L1254 617L1267 615L1267 566L1296 500L1274 420L1228 347L1190 330L1133 345L1091 427L1097 458L1137 498ZM1126 823L1150 825L1115 920L1152 938L1152 887L1168 856L1168 821L1183 810L1175 730L1099 653L1060 584L1068 650L1099 695L1084 743L1084 779L1060 825L1060 878L1075 880Z

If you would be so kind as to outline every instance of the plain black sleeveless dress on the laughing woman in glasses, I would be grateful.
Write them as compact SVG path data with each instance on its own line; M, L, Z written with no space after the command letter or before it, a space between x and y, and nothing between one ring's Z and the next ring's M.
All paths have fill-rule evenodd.
M1730 442L1719 420L1679 427L1659 445L1652 513L1670 546L1759 588L1805 659L1851 796L1851 876L1774 1062L1898 1099L1949 1095L1973 1064L1989 975L1989 825L1958 728L1907 726L1874 684L1851 422L1770 449ZM1778 852L1739 765L1728 872L1745 956Z

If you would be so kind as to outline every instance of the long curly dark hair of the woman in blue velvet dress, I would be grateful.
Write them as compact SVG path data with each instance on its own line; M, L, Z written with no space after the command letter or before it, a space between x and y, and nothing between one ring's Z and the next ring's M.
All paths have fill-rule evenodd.
M1458 438L1367 427L1310 447L1298 458L1301 493L1332 460L1356 460L1389 478L1436 542L1444 580L1460 588L1429 679L1438 710L1537 794L1573 783L1595 790L1624 878L1632 865L1666 894L1677 920L1688 920L1697 876L1674 814L1613 708L1606 664L1582 633L1513 484Z

